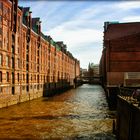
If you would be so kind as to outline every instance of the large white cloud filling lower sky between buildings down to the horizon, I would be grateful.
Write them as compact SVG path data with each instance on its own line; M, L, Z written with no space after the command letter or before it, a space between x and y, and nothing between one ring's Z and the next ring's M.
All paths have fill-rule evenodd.
M99 63L103 31L96 28L82 28L83 24L86 23L80 19L64 22L47 31L47 34L51 35L55 41L64 41L68 50L80 60L81 67L86 68L89 62Z

